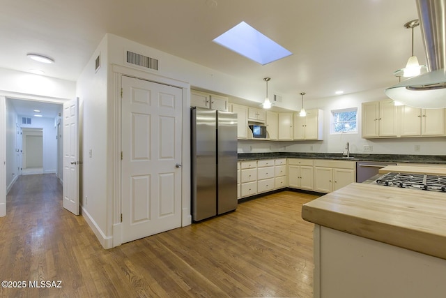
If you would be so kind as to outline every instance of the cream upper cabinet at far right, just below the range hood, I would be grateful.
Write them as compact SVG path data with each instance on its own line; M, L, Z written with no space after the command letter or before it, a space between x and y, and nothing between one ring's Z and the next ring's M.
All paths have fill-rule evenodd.
M401 137L445 135L445 109L401 106Z

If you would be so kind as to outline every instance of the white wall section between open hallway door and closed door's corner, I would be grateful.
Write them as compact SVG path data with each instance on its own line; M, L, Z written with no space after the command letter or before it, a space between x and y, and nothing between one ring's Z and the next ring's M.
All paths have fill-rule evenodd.
M99 54L101 66L95 72L95 59ZM107 203L111 200L109 189L113 189L112 185L107 185L107 57L105 36L76 85L76 96L79 97L79 158L83 162L79 197L82 214L101 242L112 234L111 227L107 224ZM109 84L113 86L113 80Z

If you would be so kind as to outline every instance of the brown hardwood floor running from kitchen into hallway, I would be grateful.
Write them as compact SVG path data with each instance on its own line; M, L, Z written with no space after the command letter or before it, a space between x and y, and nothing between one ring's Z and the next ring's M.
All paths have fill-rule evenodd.
M313 224L300 212L315 195L275 193L109 250L61 198L53 174L21 176L8 194L0 279L26 288L0 288L1 297L313 296Z

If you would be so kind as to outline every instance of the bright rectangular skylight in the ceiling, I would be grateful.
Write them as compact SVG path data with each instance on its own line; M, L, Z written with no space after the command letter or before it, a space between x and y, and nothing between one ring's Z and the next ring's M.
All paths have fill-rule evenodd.
M213 40L229 50L256 61L261 65L293 54L282 45L264 36L245 22L224 32Z

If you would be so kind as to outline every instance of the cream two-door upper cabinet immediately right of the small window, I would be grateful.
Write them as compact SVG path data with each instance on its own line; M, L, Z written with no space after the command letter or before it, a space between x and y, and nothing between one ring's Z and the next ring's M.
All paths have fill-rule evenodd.
M397 137L397 121L393 100L362 103L362 137Z

